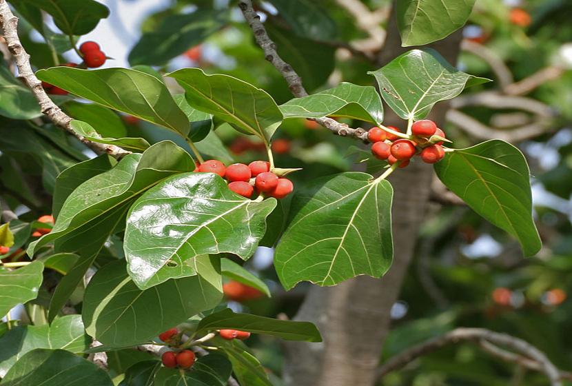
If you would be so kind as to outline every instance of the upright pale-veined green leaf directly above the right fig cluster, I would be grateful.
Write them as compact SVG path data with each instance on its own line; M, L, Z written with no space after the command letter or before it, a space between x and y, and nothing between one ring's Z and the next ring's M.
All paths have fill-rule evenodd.
M435 103L489 81L456 70L430 48L405 52L368 74L376 77L383 100L396 114L416 120L425 118Z

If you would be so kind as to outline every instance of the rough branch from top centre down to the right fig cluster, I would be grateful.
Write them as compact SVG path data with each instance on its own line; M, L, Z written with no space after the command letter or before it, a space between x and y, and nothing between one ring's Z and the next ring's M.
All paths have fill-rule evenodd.
M261 22L260 17L252 7L251 0L239 0L238 7L241 8L243 15L254 33L254 39L256 43L260 45L265 54L265 59L274 65L274 68L280 72L282 77L288 84L288 88L296 98L301 98L307 96L308 93L304 88L302 79L296 73L292 65L286 63L276 52L276 43L270 39L266 29ZM369 142L367 139L367 131L362 128L350 128L345 123L339 123L338 121L331 118L316 118L312 119L323 125L325 128L330 130L332 133L339 136L351 136L362 141Z

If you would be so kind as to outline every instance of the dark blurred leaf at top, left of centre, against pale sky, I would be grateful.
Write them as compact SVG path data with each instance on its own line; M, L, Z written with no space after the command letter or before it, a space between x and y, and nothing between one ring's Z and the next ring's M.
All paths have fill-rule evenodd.
M163 65L203 43L226 22L227 12L200 8L192 13L167 16L157 28L143 34L129 54L129 63Z

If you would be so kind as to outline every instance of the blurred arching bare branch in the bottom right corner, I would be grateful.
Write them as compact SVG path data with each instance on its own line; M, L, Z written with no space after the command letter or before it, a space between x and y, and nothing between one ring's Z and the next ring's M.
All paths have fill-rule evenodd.
M520 338L516 338L515 336L510 336L507 334L500 334L498 332L493 332L489 329L482 329L482 328L458 328L453 329L453 331L448 332L445 335L438 336L437 338L429 339L429 341L425 341L420 343L419 345L413 346L410 349L407 349L405 352L394 356L387 360L387 362L380 367L378 370L378 380L385 376L385 374L392 372L396 369L400 369L404 367L408 363L411 363L413 360L423 356L425 354L429 354L437 349L445 347L447 345L451 345L453 343L459 343L462 341L472 341L476 343L481 343L482 341L486 341L489 343L487 346L488 348L491 347L491 344L494 345L502 345L513 349L515 352L518 352L527 357L527 360L531 360L538 364L538 370L544 372L550 380L551 386L562 386L561 378L562 374L560 371L551 363L549 358L541 352L539 349L534 347L533 345L523 341ZM497 348L497 347L495 347ZM500 351L497 350L496 356L500 356ZM509 352L504 352L503 354L511 354ZM514 356L511 358L520 358L519 356ZM511 360L514 361L514 360ZM520 363L524 365L523 363Z

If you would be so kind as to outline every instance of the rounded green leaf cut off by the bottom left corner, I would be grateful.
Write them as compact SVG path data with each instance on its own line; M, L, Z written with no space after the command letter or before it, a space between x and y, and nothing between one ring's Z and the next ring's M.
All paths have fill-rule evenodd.
M12 366L1 386L113 386L108 374L88 360L57 349L35 349Z

